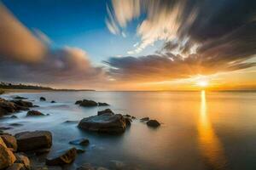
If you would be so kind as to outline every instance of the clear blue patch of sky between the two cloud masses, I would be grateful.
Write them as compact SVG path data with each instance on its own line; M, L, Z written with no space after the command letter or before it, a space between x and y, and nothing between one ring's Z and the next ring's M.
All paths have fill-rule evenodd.
M114 56L126 56L139 42L137 21L125 28L126 37L113 35L106 26L108 0L3 0L4 5L31 31L38 29L51 40L53 48L82 48L93 64ZM143 54L152 54L160 47L149 46Z

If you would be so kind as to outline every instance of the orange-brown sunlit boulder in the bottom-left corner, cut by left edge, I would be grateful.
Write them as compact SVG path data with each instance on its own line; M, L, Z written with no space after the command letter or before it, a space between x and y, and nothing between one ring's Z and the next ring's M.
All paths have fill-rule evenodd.
M11 150L0 144L0 169L4 169L14 164L15 155Z

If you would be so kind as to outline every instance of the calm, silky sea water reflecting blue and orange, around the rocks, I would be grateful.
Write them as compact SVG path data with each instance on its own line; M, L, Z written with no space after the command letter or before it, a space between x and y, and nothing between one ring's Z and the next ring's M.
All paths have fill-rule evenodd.
M8 98L10 95L5 95ZM90 139L86 153L67 169L90 162L112 168L113 162L138 169L256 169L256 93L212 92L56 92L19 94L35 100L36 108L50 116L0 120L1 126L19 122L9 133L49 130L53 133L51 153L67 149L72 139ZM38 101L44 96L48 101ZM119 136L87 133L77 127L80 120L106 109L73 105L78 99L107 102L115 113L162 122L153 129L135 121ZM57 103L50 104L50 100Z

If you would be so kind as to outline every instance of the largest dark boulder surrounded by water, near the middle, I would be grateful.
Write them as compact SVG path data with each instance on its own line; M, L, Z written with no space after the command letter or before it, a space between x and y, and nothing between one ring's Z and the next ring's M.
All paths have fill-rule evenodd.
M124 133L126 124L125 118L117 115L90 116L79 122L79 128L98 133Z

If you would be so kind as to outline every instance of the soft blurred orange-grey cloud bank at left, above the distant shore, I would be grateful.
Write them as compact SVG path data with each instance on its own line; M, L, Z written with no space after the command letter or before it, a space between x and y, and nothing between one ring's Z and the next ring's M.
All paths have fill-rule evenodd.
M80 48L52 49L49 38L32 34L0 4L0 78L8 82L35 82L90 86L104 81L101 67L91 65Z

